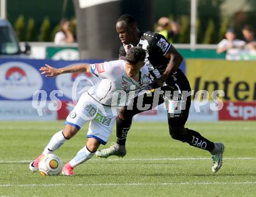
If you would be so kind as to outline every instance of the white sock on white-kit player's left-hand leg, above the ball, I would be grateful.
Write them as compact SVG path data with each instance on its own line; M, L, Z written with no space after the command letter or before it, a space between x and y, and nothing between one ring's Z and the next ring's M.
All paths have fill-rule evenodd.
M42 152L42 154L45 155L45 154L54 152L56 149L61 147L66 140L67 139L64 137L62 130L59 132L56 132L56 134L52 136L47 146L45 146L44 152Z

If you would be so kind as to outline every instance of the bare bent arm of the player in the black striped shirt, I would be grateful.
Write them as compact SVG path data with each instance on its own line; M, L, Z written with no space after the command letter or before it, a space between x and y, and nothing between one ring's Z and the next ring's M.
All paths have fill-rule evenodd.
M158 85L159 87L162 87L165 80L179 68L183 61L182 55L177 52L174 46L170 46L169 51L165 55L165 58L169 59L169 63L162 76L154 80L154 84Z

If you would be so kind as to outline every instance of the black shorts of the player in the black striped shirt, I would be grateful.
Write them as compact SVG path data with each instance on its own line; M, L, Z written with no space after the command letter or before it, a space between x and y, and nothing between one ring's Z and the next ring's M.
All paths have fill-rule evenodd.
M187 77L181 70L166 80L169 85L156 89L151 94L136 96L126 107L129 116L155 108L165 102L170 126L184 126L189 117L191 88ZM127 116L126 116L127 117Z

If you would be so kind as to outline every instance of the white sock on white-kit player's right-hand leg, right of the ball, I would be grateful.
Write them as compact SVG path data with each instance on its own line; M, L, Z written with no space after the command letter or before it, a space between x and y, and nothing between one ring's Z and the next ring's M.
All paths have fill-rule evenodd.
M72 160L70 160L69 164L72 167L76 167L80 163L83 163L83 162L91 159L91 157L93 157L94 154L95 154L95 152L88 151L87 147L84 146L83 148L80 149L79 152L77 152L77 155Z

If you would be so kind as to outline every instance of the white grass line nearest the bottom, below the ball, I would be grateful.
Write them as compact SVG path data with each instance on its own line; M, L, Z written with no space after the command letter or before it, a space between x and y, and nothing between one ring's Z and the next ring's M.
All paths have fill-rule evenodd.
M98 184L3 184L0 187L57 187L57 186L154 186L154 185L255 185L256 182L131 182L131 183L98 183Z

